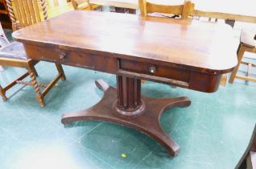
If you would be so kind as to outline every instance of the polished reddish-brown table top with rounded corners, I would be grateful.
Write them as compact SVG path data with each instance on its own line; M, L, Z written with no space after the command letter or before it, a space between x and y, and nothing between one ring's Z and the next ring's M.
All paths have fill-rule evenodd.
M72 11L15 31L13 37L196 72L225 73L237 64L232 29L217 23Z

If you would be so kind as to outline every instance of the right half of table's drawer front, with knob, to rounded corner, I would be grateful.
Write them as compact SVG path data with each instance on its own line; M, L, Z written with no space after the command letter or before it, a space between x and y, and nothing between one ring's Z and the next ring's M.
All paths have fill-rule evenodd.
M120 74L137 76L142 79L154 80L201 92L217 91L221 74L195 72L184 68L173 68L160 64L143 63L134 60L120 60Z

